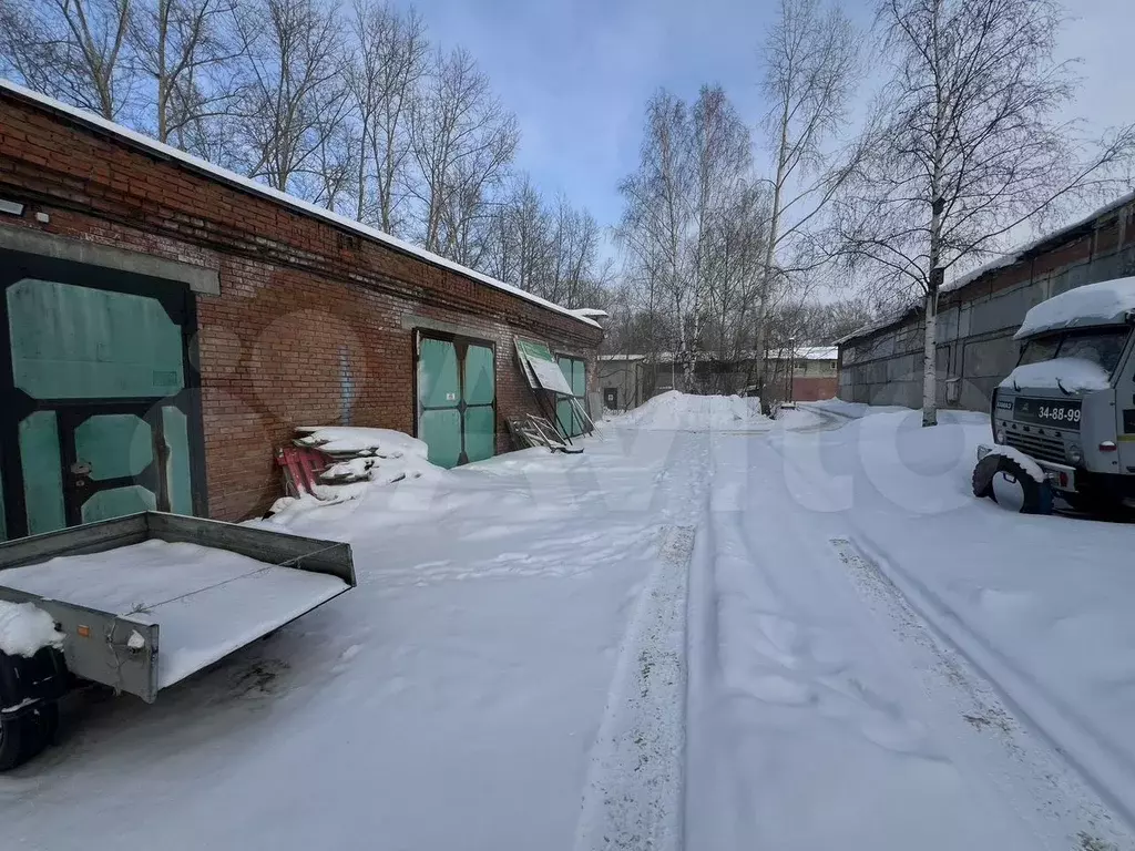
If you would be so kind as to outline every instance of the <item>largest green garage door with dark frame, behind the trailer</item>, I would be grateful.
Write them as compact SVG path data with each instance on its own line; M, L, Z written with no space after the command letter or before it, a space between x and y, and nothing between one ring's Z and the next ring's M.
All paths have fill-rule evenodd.
M201 513L187 288L15 252L0 269L0 536Z

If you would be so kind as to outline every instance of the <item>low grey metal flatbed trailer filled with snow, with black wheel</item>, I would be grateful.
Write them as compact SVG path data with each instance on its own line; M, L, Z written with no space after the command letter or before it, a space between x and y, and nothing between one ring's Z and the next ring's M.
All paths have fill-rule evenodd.
M125 551L115 564L116 550L150 540L194 544L263 566L247 570L239 559L226 574L168 564L162 572L159 564L140 566L136 554L126 559ZM94 554L106 555L51 562ZM91 605L108 598L100 588L121 584L124 570L142 580L150 599ZM33 604L64 634L61 650L0 652L0 770L42 750L57 724L56 701L75 684L100 683L153 702L161 689L355 584L347 544L159 512L0 544L0 600Z

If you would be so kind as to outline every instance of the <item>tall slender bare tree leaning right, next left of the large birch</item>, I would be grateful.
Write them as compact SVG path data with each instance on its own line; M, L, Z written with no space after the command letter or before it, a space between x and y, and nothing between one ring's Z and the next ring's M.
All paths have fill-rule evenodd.
M830 170L825 149L844 127L858 83L855 27L838 7L825 9L821 0L781 0L763 60L762 89L772 104L764 128L774 176L756 317L762 362L765 317L782 268L780 254L807 235L848 174L846 166Z

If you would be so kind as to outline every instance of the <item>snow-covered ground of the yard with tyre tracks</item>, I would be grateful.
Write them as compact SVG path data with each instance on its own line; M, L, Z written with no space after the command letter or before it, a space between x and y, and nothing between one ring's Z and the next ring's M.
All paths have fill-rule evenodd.
M675 394L285 511L359 588L78 696L0 846L1135 848L1135 526L974 499L942 419Z

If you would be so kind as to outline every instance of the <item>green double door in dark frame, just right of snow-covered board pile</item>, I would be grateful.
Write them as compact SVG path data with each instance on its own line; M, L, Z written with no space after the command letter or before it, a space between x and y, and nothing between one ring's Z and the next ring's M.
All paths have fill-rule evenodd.
M496 355L493 344L418 336L418 437L429 461L452 467L496 454Z

